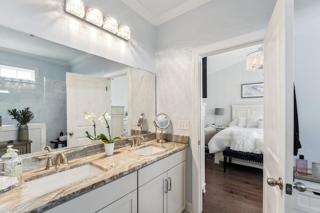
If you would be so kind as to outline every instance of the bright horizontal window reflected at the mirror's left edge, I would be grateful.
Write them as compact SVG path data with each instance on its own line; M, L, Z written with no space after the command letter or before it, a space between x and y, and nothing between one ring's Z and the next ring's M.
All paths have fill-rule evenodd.
M24 69L0 64L0 77L12 78L14 80L35 80L35 70Z

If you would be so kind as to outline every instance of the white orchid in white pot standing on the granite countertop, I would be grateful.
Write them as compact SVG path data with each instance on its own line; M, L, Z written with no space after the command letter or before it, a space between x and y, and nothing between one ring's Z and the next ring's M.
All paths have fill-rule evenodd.
M104 151L105 151L105 155L113 155L113 150L114 150L114 140L116 139L121 139L120 137L114 137L111 138L111 134L110 134L110 127L108 124L108 120L111 119L111 116L109 115L109 113L107 112L107 110L103 113L103 115L101 115L98 120L101 123L105 123L106 124L106 128L108 130L108 134L109 134L109 138L106 137L104 134L99 134L98 137L101 139L101 141L104 143Z

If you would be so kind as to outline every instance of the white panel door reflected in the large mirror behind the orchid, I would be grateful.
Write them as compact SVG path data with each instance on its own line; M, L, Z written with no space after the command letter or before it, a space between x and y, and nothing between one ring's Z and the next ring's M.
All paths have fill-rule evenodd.
M107 90L106 90L107 87ZM84 119L83 111L92 111L95 118L95 132L106 134L105 124L97 120L108 110L111 112L110 80L75 73L66 73L66 122L67 146L90 143L85 131L94 135L93 123Z

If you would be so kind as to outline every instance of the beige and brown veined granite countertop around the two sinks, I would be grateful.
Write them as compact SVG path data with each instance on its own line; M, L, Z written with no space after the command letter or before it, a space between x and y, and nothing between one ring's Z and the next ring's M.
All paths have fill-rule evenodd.
M148 156L138 155L129 151L131 149L136 149L151 144L157 147L162 147L165 150ZM156 140L152 140L143 142L139 147L123 147L115 149L112 156L105 156L104 153L99 153L96 155L75 159L69 161L67 166L60 167L57 170L44 170L44 168L41 168L24 172L22 174L21 186L0 195L0 211L1 213L37 213L46 211L86 192L121 178L129 173L132 173L142 167L152 164L160 159L181 151L188 147L188 144L176 142L159 144L156 142ZM79 164L91 164L103 170L104 172L95 177L84 179L74 184L38 196L32 195L25 184L25 181L65 170L69 167L76 167Z

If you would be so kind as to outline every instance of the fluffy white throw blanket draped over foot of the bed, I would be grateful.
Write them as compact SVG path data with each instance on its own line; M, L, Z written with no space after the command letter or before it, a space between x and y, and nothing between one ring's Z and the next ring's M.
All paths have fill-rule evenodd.
M230 149L241 152L253 152L257 133L255 131L231 131Z

